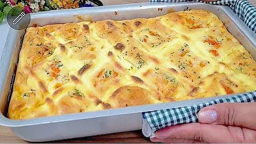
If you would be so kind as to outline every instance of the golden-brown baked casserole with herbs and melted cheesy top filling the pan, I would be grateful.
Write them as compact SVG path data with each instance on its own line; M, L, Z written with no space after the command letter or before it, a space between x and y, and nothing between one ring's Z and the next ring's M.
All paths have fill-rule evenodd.
M9 117L213 97L255 83L256 62L209 11L30 27Z

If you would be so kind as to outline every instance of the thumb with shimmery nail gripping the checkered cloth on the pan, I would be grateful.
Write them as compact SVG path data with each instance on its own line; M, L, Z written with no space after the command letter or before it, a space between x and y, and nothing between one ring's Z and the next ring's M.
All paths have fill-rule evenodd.
M256 103L219 103L205 107L198 113L204 124L239 126L256 130Z

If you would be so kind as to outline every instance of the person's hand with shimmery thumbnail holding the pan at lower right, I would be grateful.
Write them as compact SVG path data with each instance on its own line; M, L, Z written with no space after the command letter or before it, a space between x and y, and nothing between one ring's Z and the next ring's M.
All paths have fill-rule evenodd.
M199 123L180 124L156 132L153 142L255 143L256 103L220 103L202 108Z

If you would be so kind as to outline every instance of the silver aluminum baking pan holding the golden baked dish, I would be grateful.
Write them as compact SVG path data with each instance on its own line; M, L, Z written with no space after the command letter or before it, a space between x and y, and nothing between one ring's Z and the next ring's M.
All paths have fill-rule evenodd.
M158 9L160 8L160 9ZM162 9L161 9L162 8ZM124 20L133 18L149 18L185 9L204 9L216 14L231 34L256 59L256 35L231 11L227 6L210 5L196 2L182 3L140 3L101 7L84 7L69 10L54 10L48 12L31 13L30 26L49 25L53 23L67 23L97 20ZM117 14L116 14L117 13ZM22 36L25 30L10 28L4 52L0 60L0 93L1 113L0 124L10 127L17 137L33 142L52 141L86 137L91 135L108 134L140 130L142 127L142 112L195 105L208 102L216 98L167 102L144 106L108 109L101 111L66 114L42 117L29 120L11 120L6 117L9 95L12 92L12 81L15 76Z

